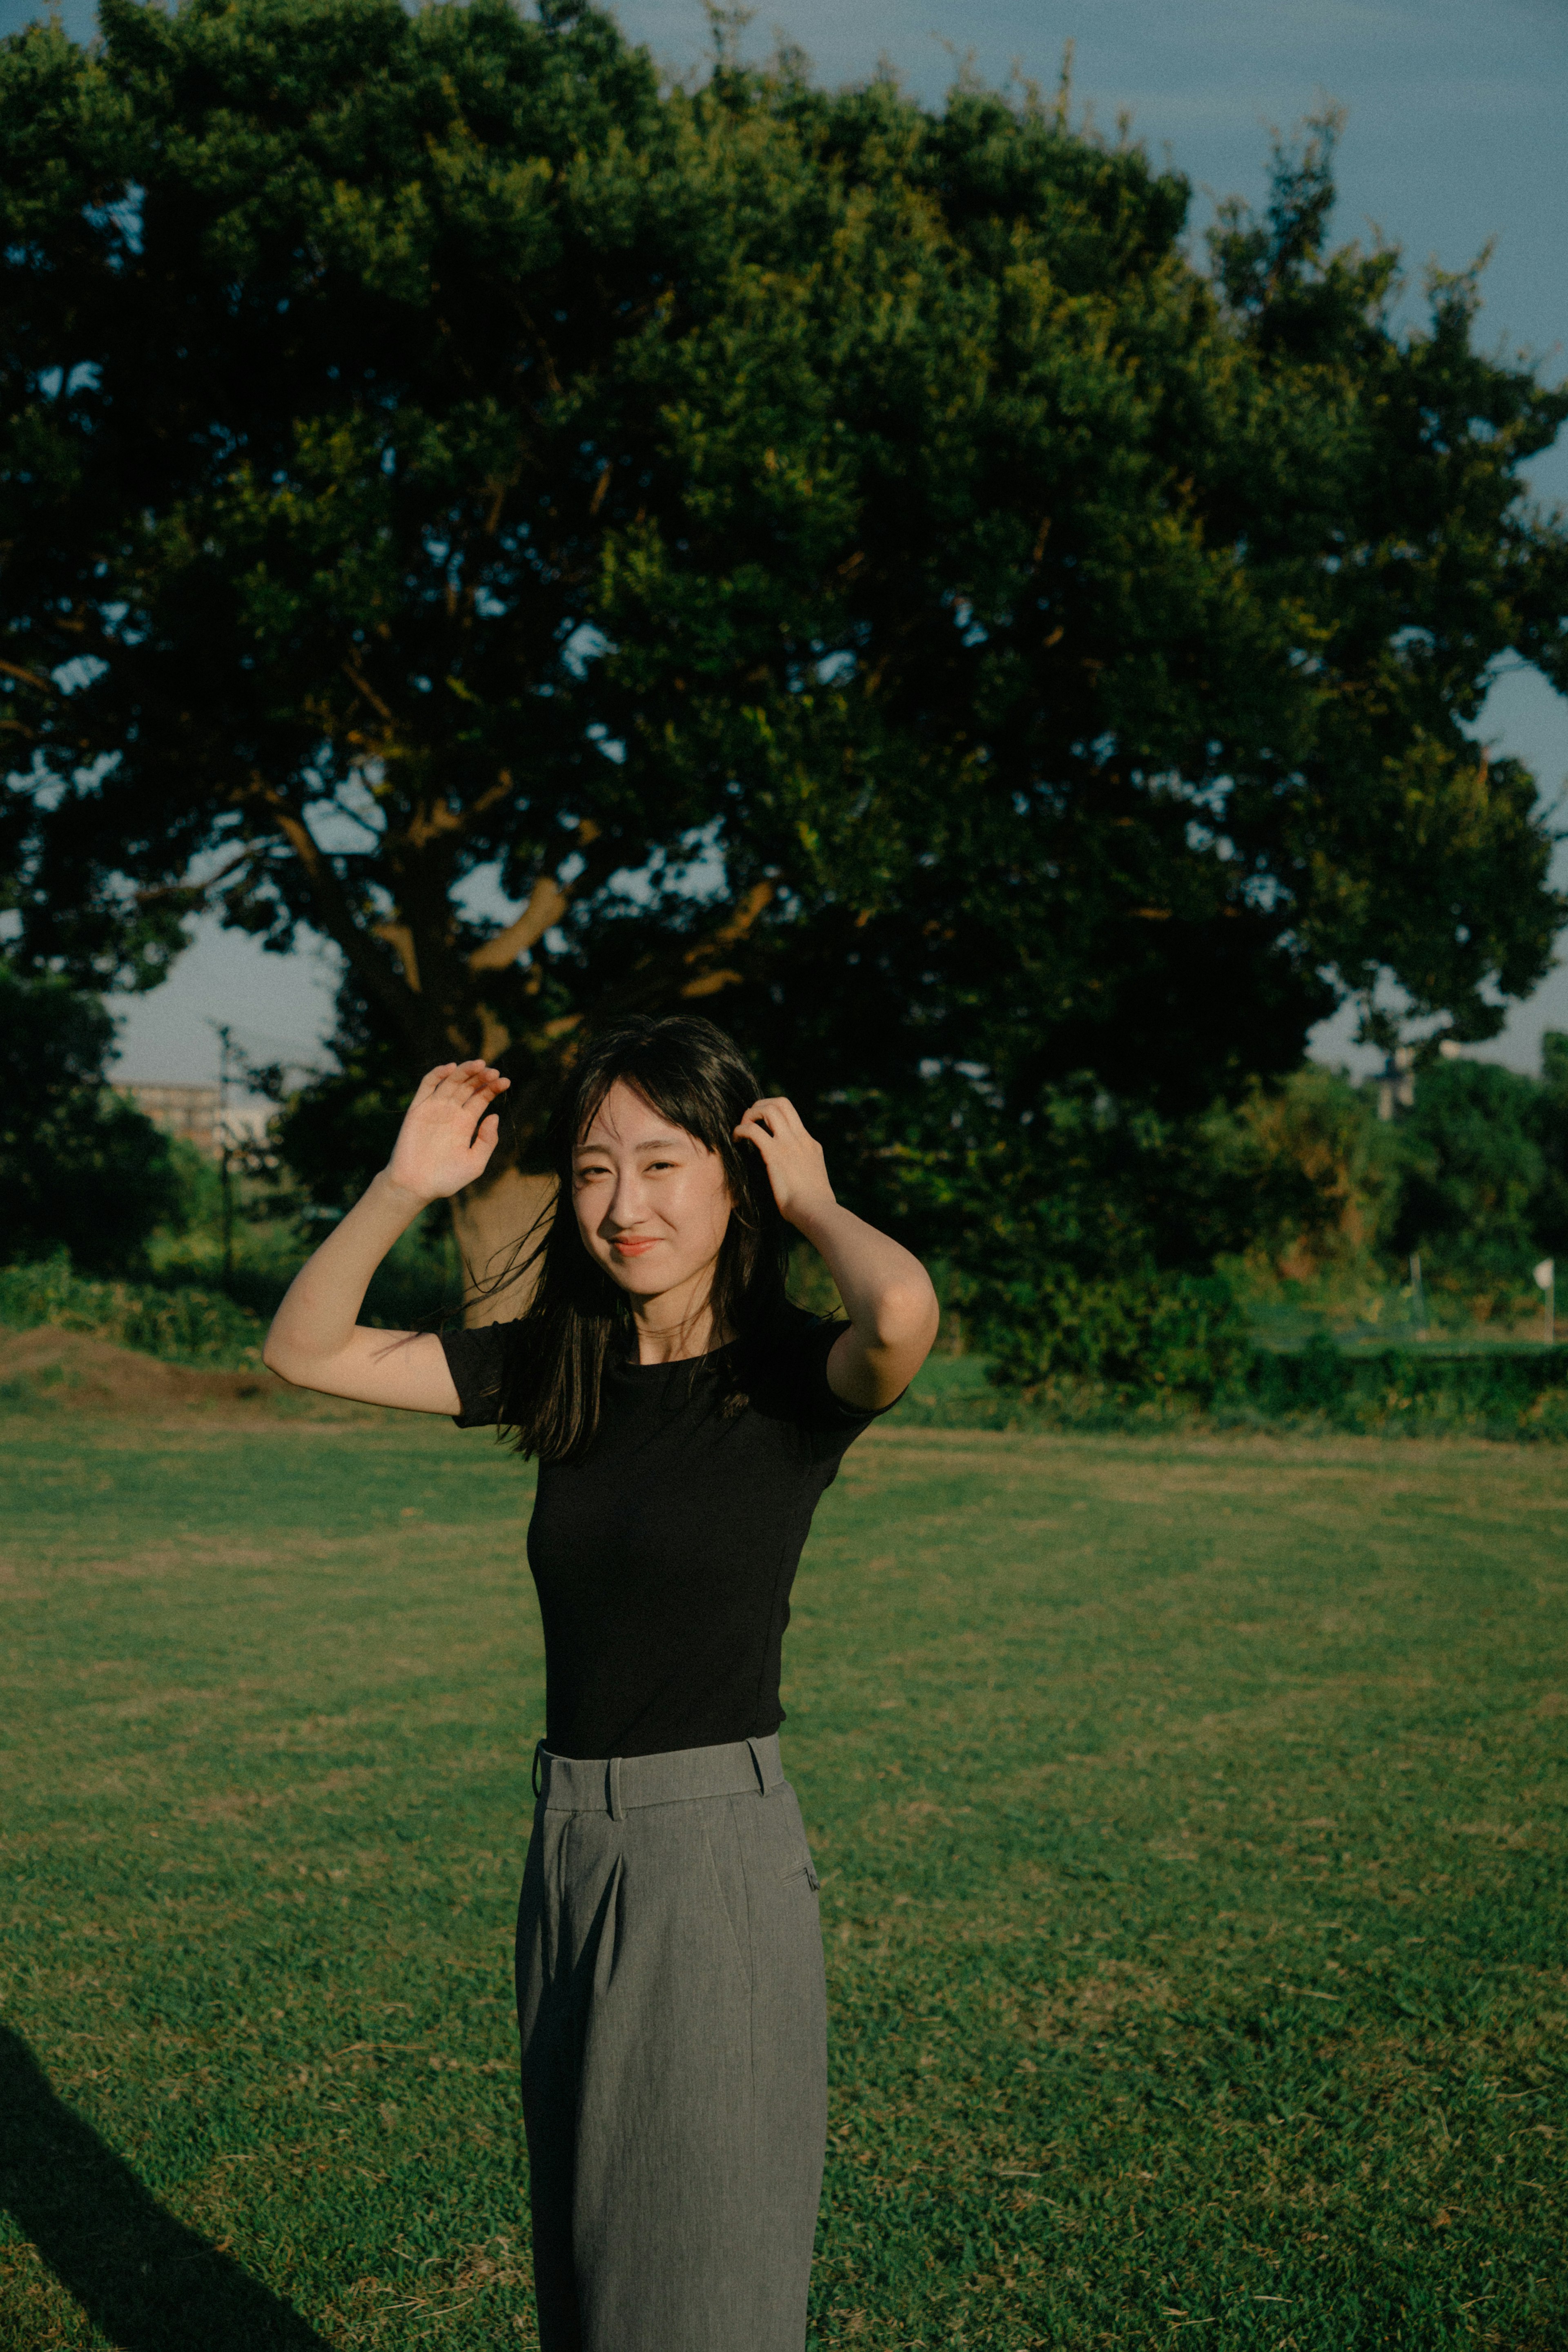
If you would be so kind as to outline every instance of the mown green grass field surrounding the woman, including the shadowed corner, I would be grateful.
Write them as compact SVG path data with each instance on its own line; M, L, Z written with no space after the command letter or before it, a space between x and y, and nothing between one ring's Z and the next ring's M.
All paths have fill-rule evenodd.
M0 1439L0 2345L531 2345L527 1472ZM1554 1449L853 1449L785 1691L816 2347L1561 2352L1566 1536Z

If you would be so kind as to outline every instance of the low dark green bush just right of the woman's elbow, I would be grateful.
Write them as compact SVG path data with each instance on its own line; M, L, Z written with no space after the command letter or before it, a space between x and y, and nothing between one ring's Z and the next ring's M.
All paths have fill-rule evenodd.
M980 1279L971 1296L999 1388L1091 1385L1117 1402L1171 1395L1213 1404L1246 1376L1251 1329L1218 1275Z

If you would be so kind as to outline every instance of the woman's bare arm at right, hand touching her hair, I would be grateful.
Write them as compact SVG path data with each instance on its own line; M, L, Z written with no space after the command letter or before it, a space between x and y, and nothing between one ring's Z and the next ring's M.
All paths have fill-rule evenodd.
M893 1404L931 1355L943 1319L931 1275L900 1242L839 1209L823 1145L783 1094L752 1103L736 1136L757 1145L780 1214L820 1249L839 1287L849 1331L827 1357L827 1385L865 1411Z

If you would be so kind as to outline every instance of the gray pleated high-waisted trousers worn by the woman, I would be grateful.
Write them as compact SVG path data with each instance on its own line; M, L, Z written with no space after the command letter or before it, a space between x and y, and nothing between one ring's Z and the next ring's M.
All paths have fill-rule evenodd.
M827 2018L776 1738L541 1748L517 2018L543 2352L802 2352Z

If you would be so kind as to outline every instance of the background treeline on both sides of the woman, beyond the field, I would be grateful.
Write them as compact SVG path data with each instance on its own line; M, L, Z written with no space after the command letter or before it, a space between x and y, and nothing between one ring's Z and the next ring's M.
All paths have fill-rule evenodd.
M219 1171L113 1089L110 1051L113 1018L96 997L0 967L0 1263L63 1249L89 1275L158 1268L165 1282L212 1282ZM1056 1155L1039 1188L1020 1185L980 1080L969 1096L980 1122L947 1108L903 1136L889 1131L889 1105L863 1098L860 1120L882 1129L863 1143L853 1197L940 1261L954 1303L990 1301L992 1317L1006 1282L1215 1265L1255 1298L1349 1303L1403 1289L1420 1256L1427 1291L1450 1312L1507 1319L1530 1298L1537 1258L1568 1261L1568 1035L1556 1030L1542 1037L1535 1077L1432 1056L1392 1120L1380 1117L1375 1077L1312 1061L1213 1105L1182 1136L1152 1127L1140 1155L1105 1105L1095 1122L1093 1103L1070 1103L1032 1145L1034 1169ZM287 1134L284 1112L270 1148L235 1157L237 1258L254 1275L261 1247L280 1279L339 1207L310 1197L287 1162ZM1086 1197L1103 1218L1088 1237ZM1107 1228L1119 1228L1114 1263ZM181 1237L197 1247L176 1247ZM447 1279L442 1265L440 1251L428 1258L428 1284ZM247 1277L242 1289L266 1296L266 1282Z

